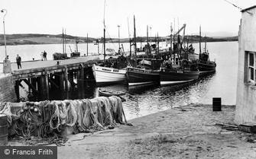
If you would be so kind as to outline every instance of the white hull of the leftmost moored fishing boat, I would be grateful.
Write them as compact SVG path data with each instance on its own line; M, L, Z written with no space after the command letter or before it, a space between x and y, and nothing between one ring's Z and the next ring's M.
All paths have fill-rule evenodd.
M107 68L92 65L96 84L114 84L126 81L126 69Z

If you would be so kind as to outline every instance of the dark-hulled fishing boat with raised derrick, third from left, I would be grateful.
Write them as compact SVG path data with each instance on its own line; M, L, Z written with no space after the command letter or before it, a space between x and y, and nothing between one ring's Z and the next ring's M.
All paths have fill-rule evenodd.
M177 36L177 42L174 42L173 40L172 55L161 65L159 72L161 86L183 84L199 78L199 71L196 67L196 62L188 59L188 52L186 56L182 55L182 43L183 37L185 36L185 27L186 24L184 24L177 33L173 34L173 37ZM183 36L180 38L179 33L181 30L183 30Z

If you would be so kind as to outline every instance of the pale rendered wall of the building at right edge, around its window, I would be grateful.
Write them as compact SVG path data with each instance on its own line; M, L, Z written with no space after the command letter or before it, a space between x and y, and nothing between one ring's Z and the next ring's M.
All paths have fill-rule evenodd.
M256 52L256 8L249 11L253 15L243 12L239 27L238 87L235 109L237 124L256 122L256 86L248 84L248 68L245 67L248 62L245 52Z

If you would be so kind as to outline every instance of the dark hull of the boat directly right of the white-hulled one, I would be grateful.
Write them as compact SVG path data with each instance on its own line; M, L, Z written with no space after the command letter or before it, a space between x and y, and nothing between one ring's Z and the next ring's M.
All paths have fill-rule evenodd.
M127 68L128 85L159 84L159 72L141 68Z

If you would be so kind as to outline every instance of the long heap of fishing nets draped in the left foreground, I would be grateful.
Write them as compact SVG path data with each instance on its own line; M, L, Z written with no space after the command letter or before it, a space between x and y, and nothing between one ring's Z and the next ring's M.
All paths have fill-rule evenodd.
M112 129L126 122L120 97L83 100L53 100L0 103L0 114L8 116L8 135L46 138L57 142L69 133ZM123 121L125 119L125 122ZM60 143L61 144L61 143Z

